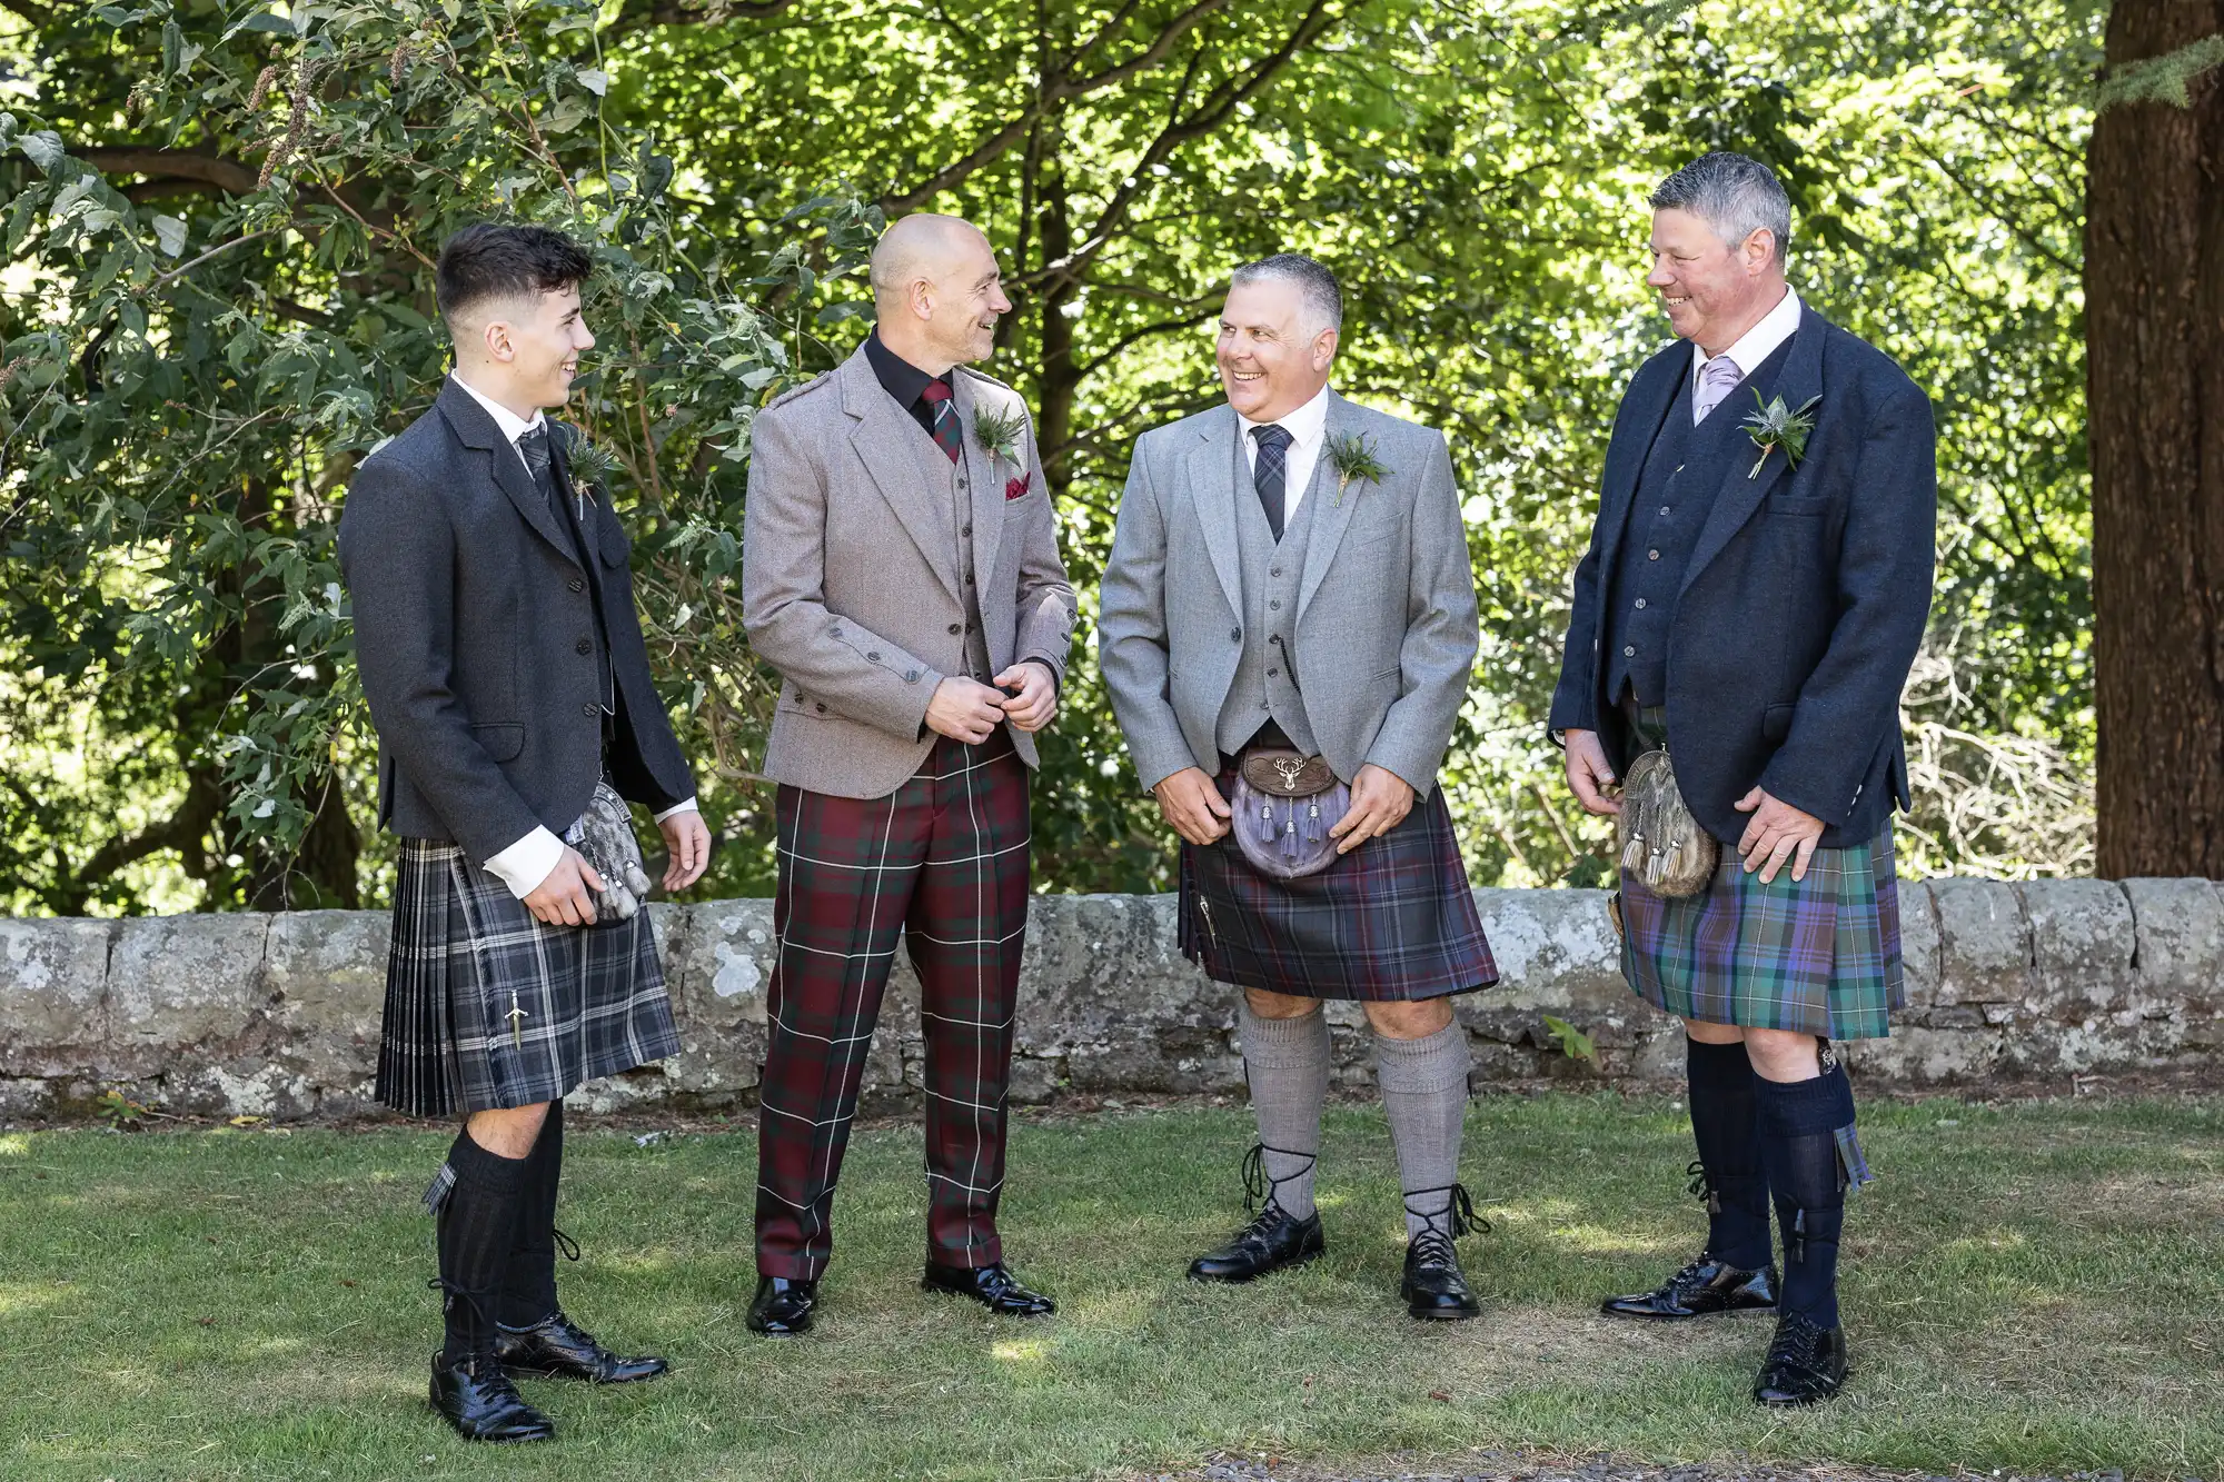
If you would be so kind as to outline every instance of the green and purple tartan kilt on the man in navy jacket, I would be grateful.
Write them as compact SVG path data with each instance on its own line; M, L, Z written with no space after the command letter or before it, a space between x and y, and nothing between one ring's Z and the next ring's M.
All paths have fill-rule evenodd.
M1657 741L1657 725L1648 710L1639 734ZM1621 923L1621 975L1681 1019L1884 1039L1906 1008L1890 819L1868 843L1815 850L1801 881L1786 866L1764 886L1730 843L1699 895L1624 879Z

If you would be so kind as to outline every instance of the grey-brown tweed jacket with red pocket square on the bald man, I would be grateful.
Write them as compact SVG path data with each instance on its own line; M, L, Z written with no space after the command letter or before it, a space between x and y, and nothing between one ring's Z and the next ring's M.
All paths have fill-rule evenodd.
M1041 659L1065 683L1074 590L1032 421L1019 461L992 461L974 436L981 407L1025 416L1019 392L959 367L965 425L963 514L950 487L921 478L919 423L896 405L865 349L776 398L749 434L741 621L781 672L765 774L834 797L887 797L934 750L923 730L945 674L965 674L965 590L979 592L992 674ZM941 461L939 456L934 458ZM1007 485L1025 476L1025 492ZM952 518L972 525L959 567ZM1012 732L1021 761L1034 739Z

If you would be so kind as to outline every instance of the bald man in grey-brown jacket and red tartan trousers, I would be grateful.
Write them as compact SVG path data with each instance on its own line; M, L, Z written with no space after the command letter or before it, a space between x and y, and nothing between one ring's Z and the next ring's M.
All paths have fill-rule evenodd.
M1074 628L1019 394L985 358L1010 300L987 238L905 216L878 327L752 434L743 623L781 672L749 1328L812 1326L834 1184L903 935L927 1039L925 1284L1052 1311L1003 1264L1005 1084L1027 930L1027 770Z

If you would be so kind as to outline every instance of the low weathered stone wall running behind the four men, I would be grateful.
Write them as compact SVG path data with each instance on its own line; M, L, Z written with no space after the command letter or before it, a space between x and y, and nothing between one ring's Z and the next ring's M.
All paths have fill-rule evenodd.
M1621 986L1597 890L1479 890L1503 979L1463 997L1477 1084L1681 1075L1672 1021ZM1942 1084L2204 1068L2224 1050L2224 888L2197 879L1942 879L1902 888L1908 1010L1855 1048L1870 1077ZM656 906L687 1050L596 1086L603 1108L714 1110L756 1095L772 903ZM1174 952L1172 897L1034 899L1014 1097L1241 1086L1232 995ZM385 912L0 919L0 1117L85 1113L109 1088L176 1113L371 1110ZM898 966L865 1070L919 1086L919 986ZM1568 1059L1543 1017L1590 1035ZM1357 1006L1339 1075L1370 1079Z

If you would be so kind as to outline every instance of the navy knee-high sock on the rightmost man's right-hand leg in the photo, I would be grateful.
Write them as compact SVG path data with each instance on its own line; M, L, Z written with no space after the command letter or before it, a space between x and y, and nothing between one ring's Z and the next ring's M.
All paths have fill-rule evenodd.
M1837 1326L1837 1239L1848 1175L1866 1175L1853 1137L1853 1084L1844 1066L1813 1081L1753 1077L1761 1108L1761 1162L1784 1233L1777 1306Z

